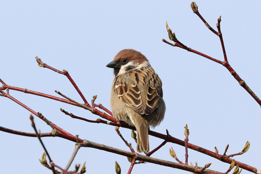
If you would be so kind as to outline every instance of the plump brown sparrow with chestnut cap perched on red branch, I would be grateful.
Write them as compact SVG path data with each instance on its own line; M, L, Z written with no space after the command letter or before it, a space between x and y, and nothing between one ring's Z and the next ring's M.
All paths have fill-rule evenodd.
M149 126L164 119L162 82L148 59L133 49L121 50L106 67L114 69L110 105L113 117L137 130L137 151L149 152Z

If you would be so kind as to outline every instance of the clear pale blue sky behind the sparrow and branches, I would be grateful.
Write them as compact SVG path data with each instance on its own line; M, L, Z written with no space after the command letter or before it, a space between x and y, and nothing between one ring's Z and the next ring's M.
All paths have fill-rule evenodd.
M216 30L222 15L221 31L230 65L247 85L261 97L260 3L258 1L197 1L199 12ZM177 39L194 50L224 60L218 36L213 34L190 8L191 1L1 1L0 2L0 78L8 85L26 88L83 102L69 80L56 72L40 68L35 56L59 70L67 70L88 102L110 109L113 70L105 67L122 49L142 52L163 83L165 119L154 131L184 140L188 124L189 143L224 153L240 152L247 141L250 149L235 160L260 167L260 106L222 65L204 57L172 47L166 21ZM69 133L81 139L129 151L115 127L87 123L64 115L60 108L77 116L96 120L89 111L54 100L18 91L10 95ZM30 112L8 98L0 97L0 126L34 133ZM51 128L35 117L37 129ZM136 144L129 129L120 128L124 138ZM37 138L0 132L1 173L52 173L39 162L44 152ZM62 138L42 138L55 164L65 167L75 143ZM162 140L150 136L151 149ZM185 149L167 143L152 157L175 162L169 155L173 147L185 161ZM126 157L92 148L81 148L73 165L86 161L87 173L115 173L115 161L122 173L130 163ZM189 163L225 172L229 164L189 149ZM74 168L71 167L71 170ZM155 164L135 165L132 173L188 173ZM232 172L231 172L232 173ZM249 173L242 171L242 173Z

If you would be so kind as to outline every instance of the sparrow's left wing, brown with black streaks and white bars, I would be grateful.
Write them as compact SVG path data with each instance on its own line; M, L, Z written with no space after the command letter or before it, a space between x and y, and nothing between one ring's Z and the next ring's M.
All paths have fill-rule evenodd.
M144 114L142 107L142 98L140 90L135 83L128 83L128 80L116 80L115 92L119 99L127 106L137 111L139 114Z

